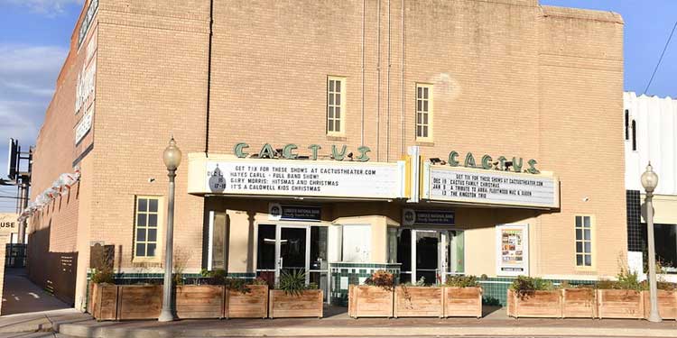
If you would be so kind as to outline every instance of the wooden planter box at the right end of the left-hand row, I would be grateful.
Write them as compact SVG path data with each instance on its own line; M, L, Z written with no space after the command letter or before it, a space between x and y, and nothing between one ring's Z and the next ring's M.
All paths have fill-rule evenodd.
M268 315L280 317L322 317L322 290L304 290L301 295L287 295L270 290Z

